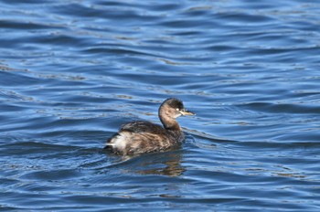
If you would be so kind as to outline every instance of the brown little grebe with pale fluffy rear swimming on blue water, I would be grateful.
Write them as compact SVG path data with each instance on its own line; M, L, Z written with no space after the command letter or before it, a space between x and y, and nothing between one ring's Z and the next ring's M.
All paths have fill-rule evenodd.
M158 115L164 128L152 122L128 122L107 141L104 148L110 149L114 154L122 155L168 150L178 146L185 139L176 118L195 113L187 111L182 101L170 98L161 104Z

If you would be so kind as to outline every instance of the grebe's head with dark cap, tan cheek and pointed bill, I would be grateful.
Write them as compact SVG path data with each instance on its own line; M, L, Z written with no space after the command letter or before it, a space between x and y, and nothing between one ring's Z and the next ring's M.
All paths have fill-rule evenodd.
M187 111L182 101L176 98L165 100L159 108L159 114L160 116L165 115L174 119L182 115L196 115L192 111Z

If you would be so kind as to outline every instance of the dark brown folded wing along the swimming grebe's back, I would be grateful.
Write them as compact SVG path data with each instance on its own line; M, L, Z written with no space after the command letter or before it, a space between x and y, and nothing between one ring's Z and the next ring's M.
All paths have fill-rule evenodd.
M163 133L165 129L153 122L136 121L123 124L123 126L120 128L120 131L128 131L134 133L150 132L158 134Z

